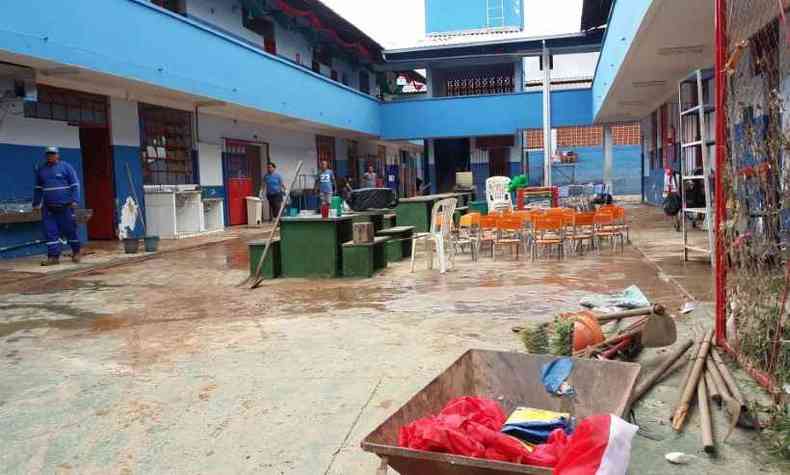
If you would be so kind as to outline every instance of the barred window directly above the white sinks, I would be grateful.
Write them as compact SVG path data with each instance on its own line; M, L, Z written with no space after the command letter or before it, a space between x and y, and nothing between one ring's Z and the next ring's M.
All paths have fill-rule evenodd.
M142 103L139 112L143 182L192 184L192 114Z

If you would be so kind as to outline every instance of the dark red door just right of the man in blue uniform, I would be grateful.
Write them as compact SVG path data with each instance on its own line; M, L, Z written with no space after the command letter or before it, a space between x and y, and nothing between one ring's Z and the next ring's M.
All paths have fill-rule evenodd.
M88 239L115 239L115 191L113 187L110 129L80 128L85 205L93 210Z

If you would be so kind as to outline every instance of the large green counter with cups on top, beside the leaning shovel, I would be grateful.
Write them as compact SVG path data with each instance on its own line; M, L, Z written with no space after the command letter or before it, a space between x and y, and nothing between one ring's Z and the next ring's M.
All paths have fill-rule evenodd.
M344 242L353 238L351 216L293 217L280 222L285 277L340 277Z

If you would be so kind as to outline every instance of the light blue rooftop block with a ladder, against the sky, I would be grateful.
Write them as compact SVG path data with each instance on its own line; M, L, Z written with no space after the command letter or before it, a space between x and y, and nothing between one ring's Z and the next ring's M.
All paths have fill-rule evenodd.
M504 24L488 24L486 0L425 0L425 31L447 33L489 27L524 28L521 0L503 0Z

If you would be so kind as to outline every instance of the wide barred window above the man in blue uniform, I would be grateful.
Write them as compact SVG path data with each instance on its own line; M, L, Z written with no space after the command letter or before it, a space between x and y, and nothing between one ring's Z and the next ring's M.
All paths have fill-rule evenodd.
M107 98L39 84L36 102L25 103L25 117L59 120L74 125L106 127Z

